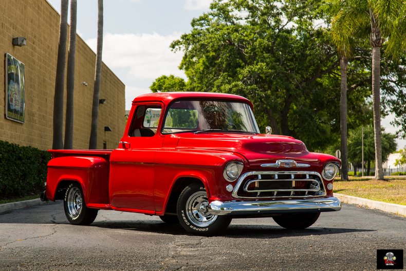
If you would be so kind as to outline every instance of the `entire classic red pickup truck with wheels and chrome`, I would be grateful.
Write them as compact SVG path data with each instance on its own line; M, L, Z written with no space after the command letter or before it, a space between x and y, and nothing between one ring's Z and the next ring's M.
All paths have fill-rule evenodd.
M115 150L50 150L42 200L88 225L98 210L159 215L211 236L232 218L272 216L287 229L338 211L341 162L289 136L261 134L252 103L215 93L138 96Z

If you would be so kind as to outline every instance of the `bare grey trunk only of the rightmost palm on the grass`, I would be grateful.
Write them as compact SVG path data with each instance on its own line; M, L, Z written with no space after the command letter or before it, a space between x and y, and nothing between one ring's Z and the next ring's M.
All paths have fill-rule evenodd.
M381 97L380 97L380 47L372 47L372 104L374 107L374 139L375 139L375 179L383 179L382 139L381 139Z

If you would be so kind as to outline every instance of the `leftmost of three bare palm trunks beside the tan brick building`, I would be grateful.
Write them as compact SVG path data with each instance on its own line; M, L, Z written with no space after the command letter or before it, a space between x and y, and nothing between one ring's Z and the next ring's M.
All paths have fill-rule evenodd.
M66 35L68 32L68 0L61 0L61 21L59 23L59 44L57 60L57 76L53 96L53 135L52 149L63 148L63 96L66 64Z

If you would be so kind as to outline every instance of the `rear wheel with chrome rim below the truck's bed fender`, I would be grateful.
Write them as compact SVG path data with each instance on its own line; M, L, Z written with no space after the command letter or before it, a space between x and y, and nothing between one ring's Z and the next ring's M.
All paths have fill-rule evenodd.
M77 183L70 184L66 189L63 207L66 218L73 225L91 224L99 211L86 207L82 187Z

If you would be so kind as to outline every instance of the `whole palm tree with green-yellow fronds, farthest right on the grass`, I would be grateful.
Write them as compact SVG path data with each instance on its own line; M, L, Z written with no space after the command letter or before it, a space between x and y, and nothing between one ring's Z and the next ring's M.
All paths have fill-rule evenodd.
M335 16L339 34L348 46L348 37L368 37L372 46L372 101L374 109L375 178L383 179L380 116L380 49L386 40L387 52L396 56L404 48L406 23L402 0L341 0ZM347 37L347 38L345 38ZM347 47L346 48L350 48Z

